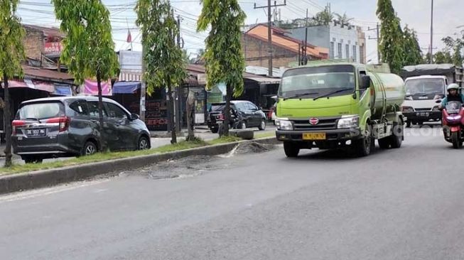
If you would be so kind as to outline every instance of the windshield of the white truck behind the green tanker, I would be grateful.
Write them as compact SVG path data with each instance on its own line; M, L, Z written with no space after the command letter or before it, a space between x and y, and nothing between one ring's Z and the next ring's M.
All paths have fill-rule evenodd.
M443 79L415 79L406 80L406 95L445 94L445 80Z

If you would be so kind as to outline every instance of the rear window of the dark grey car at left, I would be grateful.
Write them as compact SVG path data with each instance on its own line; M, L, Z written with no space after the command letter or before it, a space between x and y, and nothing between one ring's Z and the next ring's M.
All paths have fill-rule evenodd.
M63 104L59 102L26 104L19 109L16 119L48 119L64 115Z

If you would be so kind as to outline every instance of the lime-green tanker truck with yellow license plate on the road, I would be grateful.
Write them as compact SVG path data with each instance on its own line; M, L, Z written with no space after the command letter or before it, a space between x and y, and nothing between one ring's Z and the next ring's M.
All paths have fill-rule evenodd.
M387 64L313 62L281 77L276 138L288 157L301 149L351 146L367 156L404 140L404 81Z

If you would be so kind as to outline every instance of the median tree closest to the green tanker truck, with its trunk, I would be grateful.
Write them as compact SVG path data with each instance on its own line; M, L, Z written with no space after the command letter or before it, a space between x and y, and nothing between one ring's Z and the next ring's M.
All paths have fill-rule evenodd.
M206 38L206 87L224 82L226 85L226 105L224 134L229 135L230 99L243 92L245 68L242 51L241 26L246 18L237 0L201 0L203 9L198 18L197 31L211 31Z

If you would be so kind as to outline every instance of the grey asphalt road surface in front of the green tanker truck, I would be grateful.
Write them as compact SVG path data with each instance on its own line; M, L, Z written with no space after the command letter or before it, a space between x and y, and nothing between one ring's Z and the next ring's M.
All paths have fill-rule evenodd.
M463 154L409 129L367 158L241 147L4 195L0 258L464 259Z

